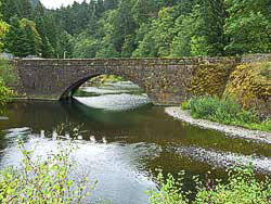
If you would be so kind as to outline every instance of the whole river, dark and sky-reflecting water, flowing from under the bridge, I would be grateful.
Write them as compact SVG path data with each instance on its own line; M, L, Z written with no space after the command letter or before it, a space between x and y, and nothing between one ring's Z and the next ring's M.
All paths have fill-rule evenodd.
M56 148L52 136L57 126L69 123L87 130L76 138L75 155L90 179L98 180L89 203L149 203L145 191L156 188L156 168L173 175L185 170L185 190L194 189L193 176L210 171L223 179L224 168L240 162L271 171L271 145L175 120L130 85L117 86L85 87L83 94L63 103L10 103L0 117L1 167L20 164L17 138L42 155Z

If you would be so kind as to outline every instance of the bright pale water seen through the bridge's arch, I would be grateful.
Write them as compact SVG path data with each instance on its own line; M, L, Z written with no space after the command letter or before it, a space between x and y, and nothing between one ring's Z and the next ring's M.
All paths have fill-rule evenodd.
M151 104L142 89L131 81L104 82L100 87L81 87L73 97L79 103L105 111L134 110Z

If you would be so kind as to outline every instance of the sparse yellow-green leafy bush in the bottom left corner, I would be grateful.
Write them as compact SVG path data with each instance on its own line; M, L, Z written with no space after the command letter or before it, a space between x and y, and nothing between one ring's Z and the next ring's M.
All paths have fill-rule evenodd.
M1 203L86 203L86 196L94 189L87 177L72 176L75 164L70 153L76 149L72 143L61 145L46 158L34 157L34 150L25 149L22 168L5 167L0 174Z

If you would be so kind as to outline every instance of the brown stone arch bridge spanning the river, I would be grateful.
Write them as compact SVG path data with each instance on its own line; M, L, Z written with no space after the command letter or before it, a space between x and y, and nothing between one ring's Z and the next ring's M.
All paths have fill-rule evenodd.
M16 60L20 93L65 99L91 77L113 74L145 90L154 104L177 104L191 97L189 87L202 65L235 64L229 59Z

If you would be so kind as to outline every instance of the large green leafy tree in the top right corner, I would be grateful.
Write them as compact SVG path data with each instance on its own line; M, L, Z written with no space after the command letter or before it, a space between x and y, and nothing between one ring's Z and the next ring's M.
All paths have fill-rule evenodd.
M225 35L228 54L271 52L270 1L227 0Z

